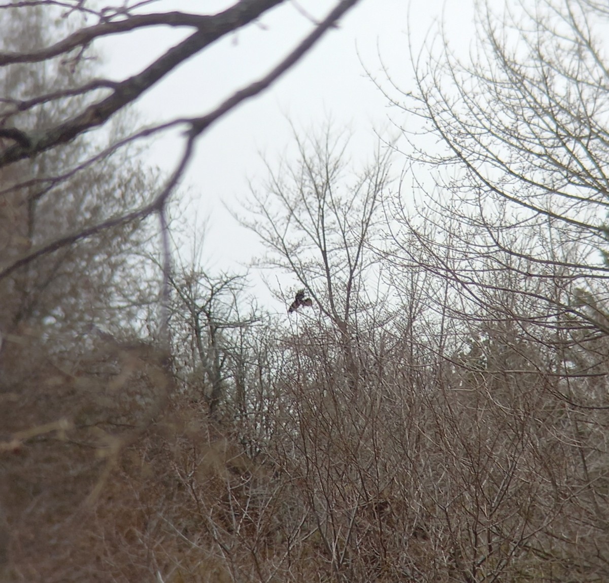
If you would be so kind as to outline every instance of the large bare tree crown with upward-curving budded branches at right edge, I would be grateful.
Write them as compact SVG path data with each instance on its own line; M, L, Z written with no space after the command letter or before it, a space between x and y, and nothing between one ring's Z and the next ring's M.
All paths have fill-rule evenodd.
M445 39L434 60L417 57L417 91L398 102L442 139L429 153L413 134L410 157L437 170L429 206L460 225L446 228L449 244L473 275L445 273L465 289L476 270L512 270L513 290L537 310L511 316L559 328L576 318L605 333L571 300L580 287L604 301L608 273L607 68L595 32L606 15L589 2L523 1L502 18L481 3L471 65Z

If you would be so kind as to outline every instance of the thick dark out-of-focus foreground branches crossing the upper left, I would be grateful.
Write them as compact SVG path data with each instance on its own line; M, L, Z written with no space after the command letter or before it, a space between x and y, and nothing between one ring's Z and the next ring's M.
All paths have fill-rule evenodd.
M2 10L5 11L29 11L32 8L41 9L43 7L46 18L63 15L69 22L76 23L78 27L77 30L66 33L64 38L54 43L43 43L42 46L23 51L8 47L0 55L0 66L5 68L10 68L15 64L49 63L50 65L59 62L67 63L72 69L77 69L85 61L88 47L97 38L107 38L146 27L185 27L192 33L176 46L167 49L163 55L150 62L139 73L127 79L114 81L99 79L93 75L90 75L88 79L78 80L62 77L66 80L66 83L60 88L38 88L37 90L24 92L23 95L18 97L8 96L0 119L0 138L4 139L6 144L4 152L0 155L0 167L26 159L33 159L41 152L62 147L62 145L68 144L85 132L103 127L111 117L124 110L147 89L160 83L185 60L205 50L211 43L228 33L253 23L267 10L280 4L283 4L281 0L242 0L215 15L183 12L142 13L138 10L138 4L133 5L133 7L122 5L120 8L108 5L101 9L90 7L83 2L68 3L68 5L53 1L44 5L30 4L29 2L5 5L2 7ZM281 74L306 54L315 41L319 40L323 33L333 26L336 20L354 4L356 4L356 0L337 2L328 16L322 22L315 23L312 32L297 47L289 51L287 56L280 60L269 74L237 91L213 111L202 116L177 117L153 127L136 128L130 136L121 141L111 143L107 148L100 149L88 158L77 159L74 163L68 164L60 175L44 176L44 180L39 179L38 184L48 184L49 181L56 182L61 180L61 176L74 175L96 159L105 158L105 156L135 139L148 137L171 127L184 126L186 128L185 150L174 173L161 189L161 192L150 197L139 207L135 206L126 212L109 214L103 220L92 222L86 228L66 232L62 236L56 236L51 241L41 243L41 245L37 245L25 253L19 254L18 257L2 267L0 276L6 276L35 257L55 251L77 240L91 237L105 229L139 220L150 214L158 213L161 217L161 224L164 225L166 222L164 208L167 200L180 179L191 157L194 141L200 134L209 125L232 110L234 106L270 86ZM93 18L96 23L91 26L83 26L83 17ZM77 98L77 100L74 98ZM24 112L38 111L49 103L69 103L71 106L64 110L65 113L49 117L44 127L38 130L21 124L20 115ZM6 190L16 190L22 186L23 180L16 180ZM165 245L168 246L167 241Z

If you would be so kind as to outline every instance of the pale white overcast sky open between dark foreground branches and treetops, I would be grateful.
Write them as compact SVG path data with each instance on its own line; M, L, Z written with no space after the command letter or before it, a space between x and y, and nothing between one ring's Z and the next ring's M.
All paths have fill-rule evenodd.
M213 13L233 2L167 0L155 10ZM225 38L181 66L138 102L144 120L159 121L188 114L204 114L248 81L268 72L290 47L311 30L300 9L316 18L335 2L299 0L272 10L258 26ZM396 82L412 88L409 42L417 49L434 21L449 23L457 40L468 42L473 9L471 0L361 0L294 69L261 96L248 100L200 138L183 181L193 202L189 216L202 224L209 217L206 256L211 267L226 267L249 259L255 250L248 235L225 211L248 191L248 179L266 172L260 154L272 161L290 143L287 118L299 127L319 125L331 117L337 127L353 132L355 151L362 156L375 145L374 131L390 128L398 116L365 74L379 79L381 58ZM409 38L410 30L410 38ZM153 29L113 38L102 46L111 75L124 77L152 61L184 38L186 31ZM433 37L433 34L432 34ZM363 65L362 65L363 63ZM167 135L150 152L150 163L170 172L181 153L182 141Z

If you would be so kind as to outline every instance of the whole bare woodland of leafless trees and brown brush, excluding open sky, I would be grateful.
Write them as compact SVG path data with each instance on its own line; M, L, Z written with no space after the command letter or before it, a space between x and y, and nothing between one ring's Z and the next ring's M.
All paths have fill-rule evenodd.
M400 136L366 164L295 130L234 209L287 316L205 268L177 184L356 2L205 116L129 114L280 4L0 6L1 581L609 581L607 5L479 2L465 60L373 80ZM191 35L98 76L96 38L160 25Z

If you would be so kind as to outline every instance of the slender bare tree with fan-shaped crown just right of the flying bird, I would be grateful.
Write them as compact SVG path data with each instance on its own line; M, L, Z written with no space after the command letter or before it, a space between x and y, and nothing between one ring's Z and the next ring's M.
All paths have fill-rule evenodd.
M381 199L389 184L389 150L377 150L364 170L350 176L348 139L331 125L305 136L295 130L294 139L297 159L269 166L269 180L252 189L239 219L267 248L258 267L293 274L319 321L333 325L354 387L357 337L382 325L375 310L385 290L373 284L381 274L371 245L378 240ZM292 297L282 299L290 305Z

